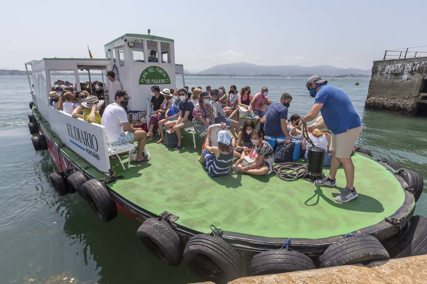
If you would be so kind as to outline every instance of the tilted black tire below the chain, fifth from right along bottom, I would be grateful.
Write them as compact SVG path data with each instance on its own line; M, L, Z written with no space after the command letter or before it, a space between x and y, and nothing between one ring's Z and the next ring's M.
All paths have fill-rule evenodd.
M167 221L148 218L138 228L137 236L149 252L169 266L181 263L184 244Z

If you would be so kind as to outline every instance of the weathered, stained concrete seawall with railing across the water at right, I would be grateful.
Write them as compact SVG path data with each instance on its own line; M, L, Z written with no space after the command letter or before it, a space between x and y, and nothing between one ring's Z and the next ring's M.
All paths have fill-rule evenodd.
M365 108L427 115L427 57L374 61Z

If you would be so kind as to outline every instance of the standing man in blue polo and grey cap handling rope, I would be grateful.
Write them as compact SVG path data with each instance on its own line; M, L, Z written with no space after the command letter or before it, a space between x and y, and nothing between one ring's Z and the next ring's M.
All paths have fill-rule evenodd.
M311 76L306 87L314 99L314 106L310 112L301 118L300 123L307 123L316 118L321 111L326 127L332 132L329 151L332 155L329 175L314 182L317 186L335 186L335 175L340 164L344 167L347 184L345 189L335 200L348 202L357 198L354 183L354 165L351 161L354 143L359 137L362 122L350 98L333 86L327 85L327 80L319 76ZM307 127L313 130L312 127Z

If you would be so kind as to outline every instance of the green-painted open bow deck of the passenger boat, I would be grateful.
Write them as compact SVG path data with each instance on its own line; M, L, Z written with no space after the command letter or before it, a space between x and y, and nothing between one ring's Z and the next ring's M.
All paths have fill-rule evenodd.
M404 190L393 173L363 155L352 157L359 197L339 203L334 198L345 187L342 167L335 187L282 181L274 173L212 178L197 161L201 139L196 137L194 149L192 135L183 135L179 151L156 144L159 137L155 136L146 146L151 160L131 162L129 170L123 171L117 159L111 160L117 175L124 178L108 186L154 214L178 215L177 224L200 232L211 232L213 224L225 231L283 238L344 235L383 221L404 203ZM324 168L325 174L328 171Z

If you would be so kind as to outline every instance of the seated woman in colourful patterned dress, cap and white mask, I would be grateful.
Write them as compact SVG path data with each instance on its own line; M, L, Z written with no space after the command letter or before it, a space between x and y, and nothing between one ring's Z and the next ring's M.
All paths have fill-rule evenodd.
M193 109L193 125L197 134L202 137L205 142L205 135L208 132L208 127L215 123L213 117L213 106L209 103L211 96L207 92L200 94L199 103Z

